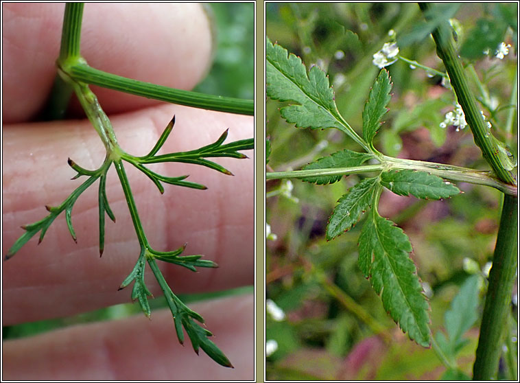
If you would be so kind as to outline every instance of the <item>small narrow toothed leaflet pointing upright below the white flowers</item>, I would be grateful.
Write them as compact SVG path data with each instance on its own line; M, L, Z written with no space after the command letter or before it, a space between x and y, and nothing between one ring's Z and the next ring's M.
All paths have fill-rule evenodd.
M390 77L386 69L381 69L379 75L368 93L368 100L363 110L363 137L372 146L377 130L379 130L381 118L388 112L388 102L390 102Z

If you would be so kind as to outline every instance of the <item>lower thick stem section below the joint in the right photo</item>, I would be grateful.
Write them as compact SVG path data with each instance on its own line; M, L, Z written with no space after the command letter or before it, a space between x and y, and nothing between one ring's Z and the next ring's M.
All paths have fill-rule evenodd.
M517 271L517 210L518 199L504 196L476 360L473 365L474 380L496 379L510 310L511 288Z

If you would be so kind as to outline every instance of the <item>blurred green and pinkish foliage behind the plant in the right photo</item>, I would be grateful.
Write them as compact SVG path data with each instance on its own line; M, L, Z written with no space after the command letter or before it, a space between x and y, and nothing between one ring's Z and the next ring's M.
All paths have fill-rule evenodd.
M493 123L493 134L517 153L517 4L455 4L448 11L456 19L460 45L484 38L490 45L497 38L512 45L503 60L494 58L493 51L484 57L468 45L462 58L464 65L475 67L477 78L468 73L469 81ZM427 26L416 3L266 3L265 15L267 36L273 43L300 56L307 69L318 65L328 73L338 110L357 132L379 72L373 54L390 41L390 30L397 33L398 43L405 41L399 54L444 71L434 41L424 33ZM487 36L491 27L494 34ZM442 86L442 78L429 77L401 60L387 69L393 96L375 146L391 156L488 170L469 128L457 132L453 126L439 127L455 102L453 91ZM493 100L491 105L483 89L487 101ZM282 104L267 100L268 171L298 170L338 150L359 150L338 130L287 124L279 115ZM359 271L361 224L335 240L325 240L327 220L337 200L364 176L370 174L344 177L333 185L298 180L266 183L266 218L276 235L266 242L266 297L285 312L281 320L266 314L266 339L278 345L266 362L267 379L471 377L485 283L475 292L480 302L475 309L477 323L465 334L469 342L456 353L458 370L449 370L433 349L423 349L402 334ZM450 200L428 202L383 191L379 204L381 216L396 222L410 237L412 259L432 307L433 334L445 332L445 312L453 297L472 274L485 275L495 246L500 193L488 187L458 186L464 194ZM508 328L508 339L515 342L516 304ZM516 351L517 343L513 345ZM514 376L516 353L508 357L501 361L501 378Z

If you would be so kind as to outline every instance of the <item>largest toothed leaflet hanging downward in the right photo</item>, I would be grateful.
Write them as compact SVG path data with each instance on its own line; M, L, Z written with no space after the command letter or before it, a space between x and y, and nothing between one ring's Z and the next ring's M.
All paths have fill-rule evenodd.
M408 255L411 251L407 235L374 210L359 235L359 268L399 327L416 343L429 347L429 306Z

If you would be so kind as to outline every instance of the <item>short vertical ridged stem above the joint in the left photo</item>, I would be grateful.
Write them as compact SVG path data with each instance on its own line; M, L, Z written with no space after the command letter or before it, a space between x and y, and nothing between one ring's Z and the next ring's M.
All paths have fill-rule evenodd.
M58 60L80 57L81 24L84 3L67 3L63 17L60 56Z

